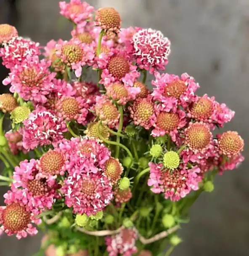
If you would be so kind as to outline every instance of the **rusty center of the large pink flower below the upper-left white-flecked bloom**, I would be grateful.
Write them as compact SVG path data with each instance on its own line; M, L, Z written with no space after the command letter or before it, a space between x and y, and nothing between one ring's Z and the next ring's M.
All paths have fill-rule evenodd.
M22 85L26 87L42 87L44 77L43 72L37 73L37 70L32 67L24 69L19 75Z

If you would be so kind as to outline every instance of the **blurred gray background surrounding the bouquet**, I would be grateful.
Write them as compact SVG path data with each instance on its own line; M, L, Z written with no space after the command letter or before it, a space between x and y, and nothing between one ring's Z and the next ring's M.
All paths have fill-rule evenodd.
M19 0L15 15L19 35L42 45L50 39L67 39L71 27L60 18L58 2ZM161 30L172 42L167 71L178 75L188 72L201 85L199 95L215 96L236 112L226 129L237 130L244 138L246 159L236 171L217 177L212 194L201 195L192 208L190 224L180 232L183 243L172 256L248 256L249 0L87 2L96 8L116 8L123 27ZM4 4L0 5L0 14L5 13L3 8ZM17 241L3 236L0 256L31 256L39 248L40 238L41 234Z

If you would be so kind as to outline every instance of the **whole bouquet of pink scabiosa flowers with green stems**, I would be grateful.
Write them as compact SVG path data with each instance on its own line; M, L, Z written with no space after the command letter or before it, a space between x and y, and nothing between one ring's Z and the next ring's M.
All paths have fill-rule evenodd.
M244 160L238 133L218 131L234 112L197 96L187 73L163 72L171 44L160 31L121 29L114 8L80 0L60 10L72 38L45 47L0 25L12 93L0 95L0 231L20 239L38 227L39 255L53 245L57 256L168 256L201 192Z

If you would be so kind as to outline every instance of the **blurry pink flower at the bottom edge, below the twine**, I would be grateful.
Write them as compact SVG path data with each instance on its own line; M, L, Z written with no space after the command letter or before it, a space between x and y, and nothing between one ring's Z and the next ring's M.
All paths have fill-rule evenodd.
M138 239L138 232L133 229L122 229L117 235L113 237L106 237L106 250L109 256L132 256L138 252L136 247L136 240Z

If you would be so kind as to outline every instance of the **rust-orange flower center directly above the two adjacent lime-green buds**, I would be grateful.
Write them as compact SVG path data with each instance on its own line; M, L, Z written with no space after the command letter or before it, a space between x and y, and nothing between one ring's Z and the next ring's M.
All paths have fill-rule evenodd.
M164 131L174 131L177 129L180 121L179 115L176 113L161 112L156 117L156 125Z

